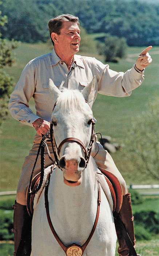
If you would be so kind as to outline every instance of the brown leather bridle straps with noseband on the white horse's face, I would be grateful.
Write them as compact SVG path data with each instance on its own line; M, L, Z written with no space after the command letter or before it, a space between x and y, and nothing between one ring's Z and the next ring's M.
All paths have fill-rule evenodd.
M89 103L86 101L86 103L89 105ZM53 107L53 110L56 106L56 103ZM90 106L90 105L89 105ZM53 112L52 110L52 112ZM70 137L70 138L66 138L64 139L63 141L61 141L61 143L59 144L59 146L57 147L57 144L56 144L56 141L55 141L55 137L54 137L54 141L55 141L55 146L56 146L56 149L57 149L57 154L60 156L60 150L61 150L61 147L63 146L64 143L66 142L76 142L78 143L83 151L84 151L84 158L86 160L86 166L85 168L87 167L88 165L88 161L90 159L90 155L91 155L91 150L92 150L92 144L94 143L94 134L95 134L95 122L92 120L91 121L92 123L92 132L91 132L91 139L90 139L90 143L88 145L88 148L86 149L86 147L84 146L83 142L77 138L73 138L73 137ZM54 154L54 157L55 157L55 160L56 160L56 165L60 168L59 166L59 160L58 160L58 157L57 157L57 154L54 150L54 147L53 147L53 124L51 123L50 125L50 137L51 137L51 142L52 142L52 150L53 150L53 154Z

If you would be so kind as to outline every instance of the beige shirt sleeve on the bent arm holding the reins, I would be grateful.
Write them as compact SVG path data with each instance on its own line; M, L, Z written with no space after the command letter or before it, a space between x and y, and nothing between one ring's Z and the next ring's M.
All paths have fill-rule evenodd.
M36 88L35 67L30 61L20 76L15 90L11 94L8 109L13 118L20 123L33 126L32 123L39 118L29 108L29 99L33 96Z

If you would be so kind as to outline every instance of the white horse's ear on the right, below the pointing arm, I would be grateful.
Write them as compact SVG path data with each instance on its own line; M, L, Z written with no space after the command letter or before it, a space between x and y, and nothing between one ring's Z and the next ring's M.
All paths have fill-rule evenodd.
M86 87L84 87L84 89L81 92L84 99L89 103L91 108L96 98L95 83L96 83L96 76L93 77L92 81Z

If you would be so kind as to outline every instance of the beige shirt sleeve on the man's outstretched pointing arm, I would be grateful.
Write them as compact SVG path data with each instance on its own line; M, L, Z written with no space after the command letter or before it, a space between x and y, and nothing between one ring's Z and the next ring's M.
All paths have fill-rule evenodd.
M113 71L109 65L104 65L96 59L94 65L100 94L115 97L130 96L132 90L139 87L144 80L143 73L137 72L134 66L124 73Z

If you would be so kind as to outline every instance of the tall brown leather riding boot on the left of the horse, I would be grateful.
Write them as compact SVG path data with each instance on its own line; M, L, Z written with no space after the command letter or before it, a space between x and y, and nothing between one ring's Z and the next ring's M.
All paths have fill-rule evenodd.
M32 218L29 217L27 207L15 201L14 209L14 255L31 254L31 225Z

